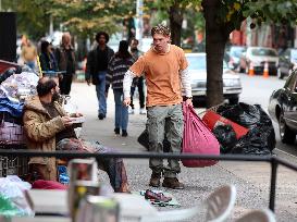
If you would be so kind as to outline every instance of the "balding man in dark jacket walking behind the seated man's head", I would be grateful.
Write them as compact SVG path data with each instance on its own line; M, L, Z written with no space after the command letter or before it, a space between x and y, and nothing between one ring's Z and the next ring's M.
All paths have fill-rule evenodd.
M69 95L71 91L72 79L75 74L75 54L71 45L70 33L62 35L60 48L55 50L55 59L59 71L65 71L59 78L60 90L62 95Z

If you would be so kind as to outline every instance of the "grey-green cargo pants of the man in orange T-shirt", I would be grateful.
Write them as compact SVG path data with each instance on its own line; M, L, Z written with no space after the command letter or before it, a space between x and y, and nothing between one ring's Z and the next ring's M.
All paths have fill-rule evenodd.
M181 153L184 131L182 104L149 107L147 116L149 150L151 152L163 152L163 140L166 134L171 145L170 152ZM168 165L164 166L162 159L151 158L149 168L153 173L163 173L164 177L176 177L176 174L181 172L176 159L169 159Z

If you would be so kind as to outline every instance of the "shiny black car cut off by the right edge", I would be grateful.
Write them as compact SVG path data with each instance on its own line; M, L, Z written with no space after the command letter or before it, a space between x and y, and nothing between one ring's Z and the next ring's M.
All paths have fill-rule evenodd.
M280 126L281 140L294 144L297 133L297 71L294 71L284 87L270 97L269 114Z

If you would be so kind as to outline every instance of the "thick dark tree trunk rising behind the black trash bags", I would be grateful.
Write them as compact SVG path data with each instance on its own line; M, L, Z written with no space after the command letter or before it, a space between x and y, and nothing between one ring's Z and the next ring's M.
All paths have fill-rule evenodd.
M216 23L220 0L202 0L206 18L207 107L223 102L223 58L228 32Z

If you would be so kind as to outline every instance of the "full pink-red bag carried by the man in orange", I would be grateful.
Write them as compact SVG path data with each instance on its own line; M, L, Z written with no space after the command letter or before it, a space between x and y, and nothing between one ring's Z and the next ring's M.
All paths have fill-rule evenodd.
M196 114L193 107L183 103L184 137L183 153L220 155L220 145L208 126ZM182 160L184 166L203 168L215 164L215 160Z

